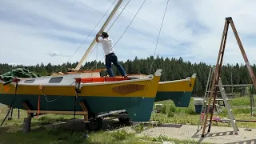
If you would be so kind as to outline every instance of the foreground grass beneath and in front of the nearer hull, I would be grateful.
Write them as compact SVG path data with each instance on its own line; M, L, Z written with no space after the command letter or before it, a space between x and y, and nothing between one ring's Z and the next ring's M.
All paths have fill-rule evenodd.
M6 116L6 107L0 107L0 120L2 122L3 118ZM171 141L175 143L198 143L195 141L182 141L173 138L166 138L162 136L161 138L150 138L150 137L138 137L136 133L128 133L126 130L114 130L114 131L98 131L90 132L87 138L83 138L86 134L84 130L74 130L71 138L65 140L58 140L62 137L70 137L71 128L66 129L63 126L46 126L53 124L54 122L65 121L67 119L73 118L72 115L56 115L56 114L46 114L41 115L38 118L32 118L31 131L30 133L22 133L22 122L23 118L26 118L26 111L20 110L20 119L18 119L18 110L14 110L13 119L6 120L4 125L0 128L0 139L1 144L5 143L15 143L15 144L78 144L78 143L93 143L93 144L147 144L154 142L162 142L161 138L166 141ZM76 118L79 118L77 116ZM82 118L82 117L80 117ZM142 131L143 127L136 127L136 131ZM141 141L143 140L143 141Z

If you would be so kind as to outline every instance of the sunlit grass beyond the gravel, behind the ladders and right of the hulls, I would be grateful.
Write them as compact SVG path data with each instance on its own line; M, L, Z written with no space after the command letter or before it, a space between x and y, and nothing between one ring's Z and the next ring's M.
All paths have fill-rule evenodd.
M250 115L249 96L243 98L234 98L229 102L231 108L233 109L234 117L237 120L256 120L256 117ZM192 98L190 101L190 106L187 108L176 107L172 101L162 101L157 103L163 104L163 110L161 114L153 114L153 120L158 120L161 123L178 123L190 125L199 124L199 114L195 114L194 102ZM221 114L214 114L214 116L218 116L220 118L229 118L226 109L222 108L222 110L223 112ZM230 124L213 122L213 126L230 126ZM238 122L238 127L256 128L256 122Z

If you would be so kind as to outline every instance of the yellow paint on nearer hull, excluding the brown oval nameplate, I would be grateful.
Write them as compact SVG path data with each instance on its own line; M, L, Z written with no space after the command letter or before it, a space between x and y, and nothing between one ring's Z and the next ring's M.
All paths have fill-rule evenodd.
M82 86L79 96L94 96L94 97L146 97L154 98L158 89L159 76L154 76L152 80L126 82L126 83L112 83L103 85ZM144 90L135 91L130 94L118 94L112 91L114 86L122 86L126 84L140 84L145 85ZM10 85L9 91L4 91L3 84L0 83L0 94L14 94L15 87ZM17 94L31 94L31 95L61 95L61 96L75 96L74 86L18 86Z

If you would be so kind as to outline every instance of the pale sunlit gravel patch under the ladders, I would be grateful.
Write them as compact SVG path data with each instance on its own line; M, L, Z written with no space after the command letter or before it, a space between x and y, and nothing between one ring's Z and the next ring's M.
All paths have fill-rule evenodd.
M193 139L197 142L210 143L256 143L256 129L251 131L239 128L238 134L234 134L232 127L211 126L210 133L202 138L202 130L197 132L198 126L165 124L144 130L140 136L147 135L158 137L160 134L168 138ZM208 127L206 128L206 132Z

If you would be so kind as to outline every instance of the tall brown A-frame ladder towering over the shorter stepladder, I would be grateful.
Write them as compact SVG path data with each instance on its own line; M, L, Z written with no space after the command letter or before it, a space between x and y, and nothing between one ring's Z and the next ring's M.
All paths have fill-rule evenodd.
M246 57L246 52L243 49L242 42L241 42L241 40L238 36L238 32L237 32L237 30L234 26L234 22L233 22L231 17L228 17L228 18L226 18L226 22L225 22L225 26L224 26L224 30L223 30L223 34L222 34L222 42L221 42L221 46L220 46L220 49L219 49L219 52L218 52L218 60L217 60L217 63L216 63L213 82L212 82L211 89L210 89L210 98L208 99L208 109L207 109L207 112L206 112L206 117L204 118L204 124L203 124L203 128L202 128L202 137L205 136L206 123L207 123L207 120L208 120L208 113L209 113L209 110L210 110L209 106L210 106L210 102L212 101L213 94L214 94L213 106L215 106L215 100L216 100L216 96L217 96L217 86L216 85L218 85L218 80L219 80L221 70L222 70L222 60L223 60L223 56L224 56L224 51L225 51L225 46L226 46L226 37L227 37L227 32L228 32L229 25L231 25L231 27L232 27L232 30L234 32L234 36L235 36L235 38L238 42L239 49L241 50L242 57L244 58L244 60L246 62L247 69L249 70L250 78L252 79L254 87L256 88L256 78L254 76L254 72L250 67L250 63L248 61L248 58ZM209 127L208 127L208 132L210 132L210 126L211 126L211 121L212 121L213 112L214 112L213 110L214 110L214 107L213 107L213 109L211 110L211 113L210 113L210 123L209 123Z

